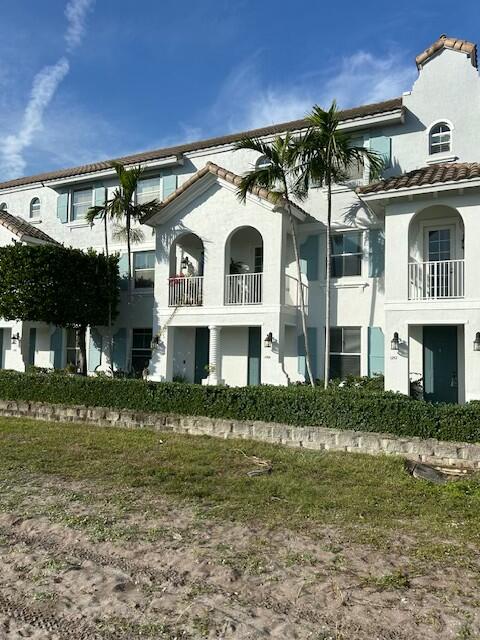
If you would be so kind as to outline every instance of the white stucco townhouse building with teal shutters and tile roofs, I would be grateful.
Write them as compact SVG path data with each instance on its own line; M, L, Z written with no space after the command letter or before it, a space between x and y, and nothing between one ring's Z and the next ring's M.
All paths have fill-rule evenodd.
M465 402L480 399L476 46L441 36L416 64L408 93L342 113L342 128L381 153L386 168L380 182L370 183L365 167L334 188L331 368L335 376L384 372L386 387L402 393L422 378L427 399ZM298 120L247 133L269 139L304 128ZM137 371L148 362L155 380L305 379L288 219L264 191L239 202L239 176L262 161L234 151L242 135L120 159L145 168L137 198L158 197L163 206L140 225L133 299L122 295L114 328L117 369L131 359ZM90 227L83 216L114 187L108 162L1 183L0 244L56 241L102 250L102 224ZM321 379L324 189L312 188L294 213L312 364ZM125 253L114 237L110 242ZM90 330L91 372L108 367L105 336L105 328ZM1 320L0 354L1 367L19 370L76 358L71 332Z

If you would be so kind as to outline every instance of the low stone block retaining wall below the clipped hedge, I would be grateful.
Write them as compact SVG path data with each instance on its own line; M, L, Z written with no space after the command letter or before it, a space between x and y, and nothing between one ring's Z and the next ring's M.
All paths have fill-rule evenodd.
M480 444L442 442L433 438L422 440L388 433L344 431L326 427L293 427L267 422L13 400L0 400L0 416L52 422L84 422L101 427L147 428L218 438L250 438L318 451L386 453L442 467L480 469Z

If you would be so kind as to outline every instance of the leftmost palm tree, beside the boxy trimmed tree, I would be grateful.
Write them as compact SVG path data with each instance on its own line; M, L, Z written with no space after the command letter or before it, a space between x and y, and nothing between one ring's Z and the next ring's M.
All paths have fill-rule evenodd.
M115 188L113 195L110 199L107 199L103 205L91 207L87 213L87 220L90 223L96 218L101 218L104 223L104 235L105 235L105 253L108 258L108 218L117 221L124 221L124 225L115 225L114 237L125 239L127 243L127 260L128 260L128 274L127 274L127 295L128 302L131 302L132 293L132 242L139 242L143 238L143 233L140 229L132 228L132 222L135 220L141 220L143 216L153 215L160 210L161 203L159 200L149 200L148 202L138 203L136 202L135 192L137 190L138 181L143 173L143 169L133 167L131 169L125 169L125 167L119 162L113 162L112 167L115 169L118 177L119 186ZM112 352L113 352L113 340L111 335L111 318L109 318L109 351L110 351L110 366L113 371ZM127 363L127 371L130 369Z

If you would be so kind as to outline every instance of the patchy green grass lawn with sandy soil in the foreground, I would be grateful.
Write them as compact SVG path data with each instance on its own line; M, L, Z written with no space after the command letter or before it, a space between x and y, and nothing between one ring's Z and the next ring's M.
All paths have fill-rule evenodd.
M194 597L195 606L184 600L185 606L190 607L187 614L181 615L183 605L170 603L174 608L172 622L171 616L163 611L163 604L158 605L162 613L154 615L150 609L142 609L146 607L142 602L141 620L138 616L124 619L116 610L112 611L108 620L101 623L105 637L109 637L108 629L113 629L115 637L121 638L127 628L131 632L132 624L136 625L137 635L125 637L147 637L149 624L163 625L153 626L153 635L148 636L158 638L177 637L179 629L183 634L179 638L219 637L215 633L224 633L220 637L225 638L375 637L371 634L381 630L371 626L377 624L372 620L381 617L379 611L390 602L388 594L394 594L395 606L400 609L390 622L382 614L382 624L387 624L391 635L378 637L480 637L475 635L479 621L473 613L479 604L473 595L478 589L479 569L478 477L437 486L410 477L403 461L396 457L301 451L253 441L20 419L0 420L0 452L0 512L4 527L4 538L0 527L0 543L3 540L9 553L22 540L28 547L26 532L30 527L36 531L37 538L33 538L37 541L42 536L45 540L55 536L65 540L66 531L77 531L85 537L85 547L93 543L110 545L107 557L109 553L125 556L126 550L133 553L132 545L137 545L137 554L141 548L145 557L155 549L171 547L172 557L176 554L177 558L176 571L187 556L190 558L186 569L189 576L195 573L192 567L200 562L198 558L205 559L204 553L209 557L210 569L218 565L218 570L209 574L212 593L206 594L204 587L198 595L195 592L190 596ZM249 477L247 472L258 468L256 459L269 461L272 472ZM17 522L29 524L20 525L25 530L19 530L17 538L10 539ZM176 535L180 538L176 539ZM206 540L203 547L201 540ZM48 544L45 542L46 547ZM37 549L38 554L48 552L44 547ZM58 560L58 549L55 553L52 550L52 554ZM156 561L152 560L152 566ZM324 597L324 618L309 626L305 612L299 614L299 622L293 627L298 635L289 635L285 625L291 624L294 614L285 614L285 622L280 609L275 613L274 607L267 607L269 615L277 617L270 615L268 621L262 618L261 628L270 625L269 635L262 635L260 627L254 625L256 631L248 627L250 622L246 620L257 620L263 614L253 609L248 615L245 613L253 607L252 603L245 604L248 601L245 595L246 601L236 604L244 617L237 611L240 622L232 622L227 631L219 631L217 618L225 620L227 614L224 605L222 609L212 604L217 602L215 589L221 587L221 593L222 589L235 591L225 586L229 580L224 576L226 568L234 571L250 597L255 590L266 589L266 585L273 588L277 584L275 589L281 592L278 583L285 586L293 581L295 597L285 596L289 606L295 601L296 610L297 604L301 605L297 600L306 598L304 606L308 608L310 594L312 612L315 610L315 615L319 615L315 602ZM342 594L342 589L349 594L347 603L368 595L365 615L355 617L354 608L348 609L348 604L343 605L346 608L341 615L335 613L326 592L320 596L317 591L332 580L343 585L338 587ZM436 590L429 590L429 581L433 580L450 594L450 603L453 592L449 590L453 589L455 597L460 598L453 607L456 613L453 609L448 613L450 609L447 611L441 605ZM26 585L31 584L31 576L26 575L25 581ZM345 581L350 584L348 589ZM461 594L459 581L463 585ZM57 587L50 587L54 594L50 606L60 615L62 598L66 596ZM25 586L25 593L16 593L15 598L26 597L29 588ZM181 591L184 587L180 584L178 588ZM417 617L413 613L410 616L409 607L400 606L399 594L408 594L407 601L411 598L413 602L413 594L417 597L418 590L422 598L417 598ZM338 596L342 597L347 596ZM207 613L201 609L206 598L213 613L208 613L208 607ZM44 600L48 602L48 598ZM42 602L40 598L39 606L46 607ZM85 611L88 606L85 605ZM391 602L389 607L390 611ZM423 617L418 618L419 611ZM198 616L200 621L196 620ZM233 613L230 617L236 619ZM89 618L92 619L91 612ZM345 625L345 631L341 625L335 628L337 623L332 621L337 619ZM277 624L280 626L275 635ZM325 631L321 631L323 624ZM139 625L145 627L143 635ZM408 625L410 635L404 636ZM383 632L385 628L382 627ZM21 637L12 629L6 638ZM315 629L323 635L312 635Z

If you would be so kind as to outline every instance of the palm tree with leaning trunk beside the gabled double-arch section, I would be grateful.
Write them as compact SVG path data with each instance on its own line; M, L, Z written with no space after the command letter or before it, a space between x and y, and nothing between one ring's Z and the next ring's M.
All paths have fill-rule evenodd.
M300 316L305 344L305 360L309 381L313 387L315 386L315 380L312 374L310 349L308 345L305 298L303 295L297 230L290 200L292 196L302 200L307 195L307 190L301 181L298 180L299 149L301 148L298 139L294 138L290 133L287 133L285 137L276 136L272 142L264 142L263 140L249 137L239 140L235 145L236 150L248 149L250 151L256 151L265 157L266 162L244 174L238 186L237 194L240 201L245 202L247 194L252 191L252 189L255 187L264 187L274 195L277 201L283 201L286 204L292 232L295 263L297 266L298 287L300 290Z

